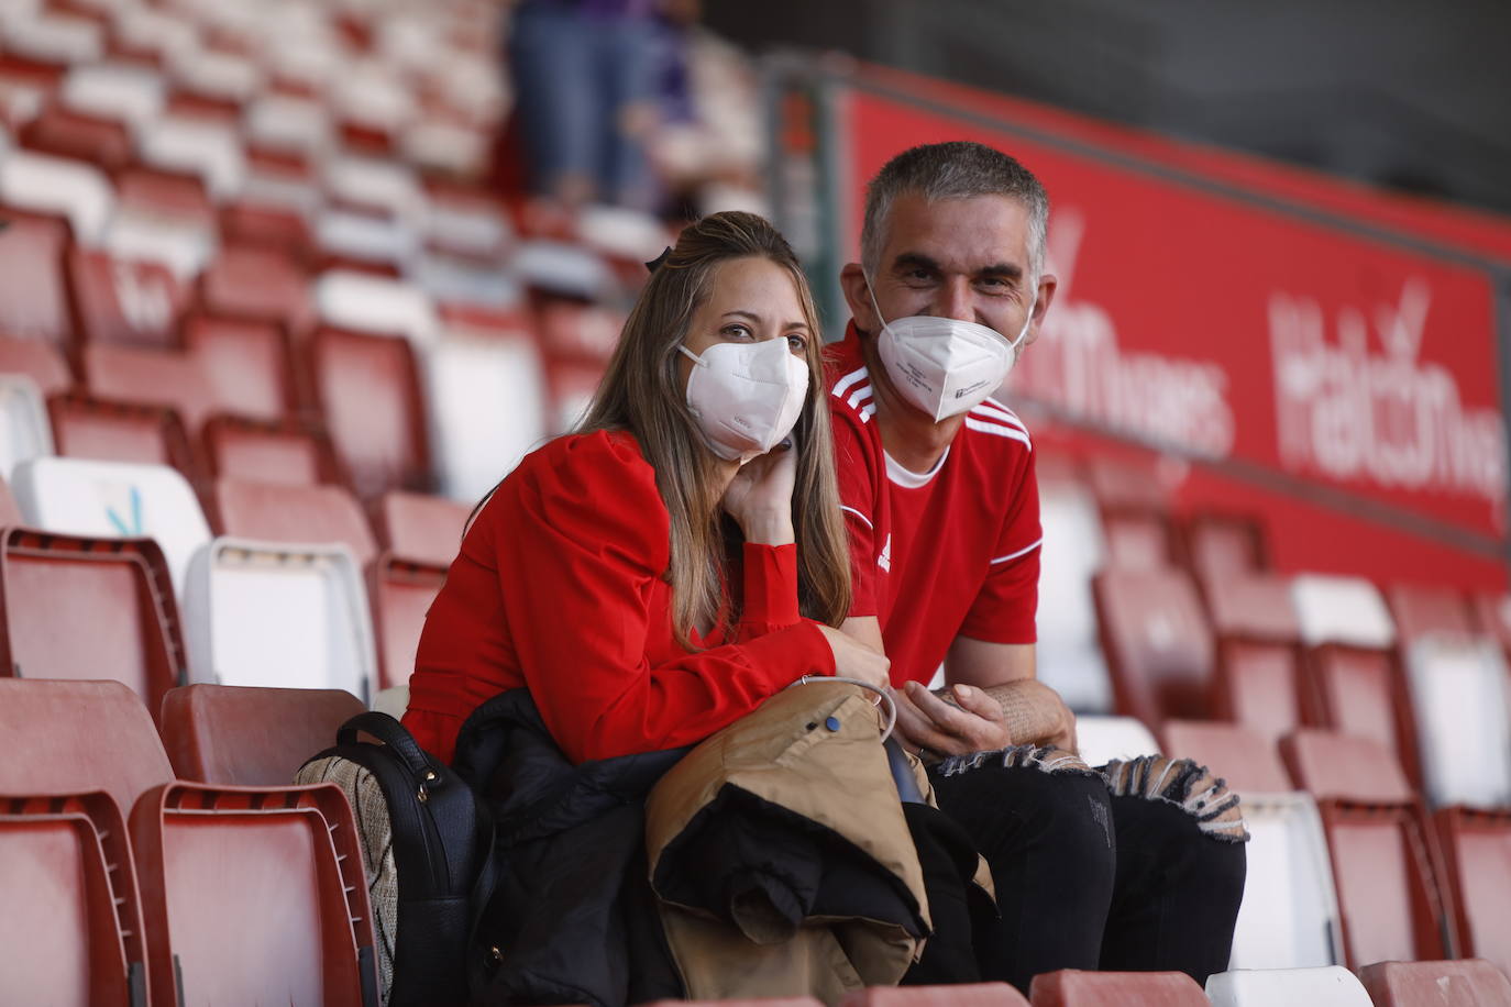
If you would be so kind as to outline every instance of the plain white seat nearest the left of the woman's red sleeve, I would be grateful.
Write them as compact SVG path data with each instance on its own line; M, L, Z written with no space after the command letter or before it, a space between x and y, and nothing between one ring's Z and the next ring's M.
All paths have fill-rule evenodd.
M367 592L346 547L215 539L193 556L184 627L196 682L372 696Z

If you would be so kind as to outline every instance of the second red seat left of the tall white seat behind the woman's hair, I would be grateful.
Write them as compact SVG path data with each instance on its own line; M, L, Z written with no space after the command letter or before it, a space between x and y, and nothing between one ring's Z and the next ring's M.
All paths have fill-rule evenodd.
M218 412L269 421L295 414L293 356L283 326L192 314L183 335Z

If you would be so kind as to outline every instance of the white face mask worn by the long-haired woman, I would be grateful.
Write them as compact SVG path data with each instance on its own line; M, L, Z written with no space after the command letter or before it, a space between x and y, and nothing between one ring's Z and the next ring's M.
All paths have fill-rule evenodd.
M792 433L808 394L808 365L787 340L715 343L703 356L677 349L695 364L688 408L715 454L743 465Z

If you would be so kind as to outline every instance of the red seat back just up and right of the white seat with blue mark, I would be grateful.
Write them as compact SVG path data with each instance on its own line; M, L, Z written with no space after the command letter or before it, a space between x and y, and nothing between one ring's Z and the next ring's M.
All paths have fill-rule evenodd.
M266 423L212 417L204 424L202 444L215 479L295 486L346 485L329 438L298 420Z

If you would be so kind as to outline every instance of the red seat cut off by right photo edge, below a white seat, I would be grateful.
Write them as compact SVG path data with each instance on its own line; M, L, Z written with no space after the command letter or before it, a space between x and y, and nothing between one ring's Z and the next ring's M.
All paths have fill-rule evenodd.
M1511 975L1511 811L1448 808L1434 821L1454 894L1458 953Z

